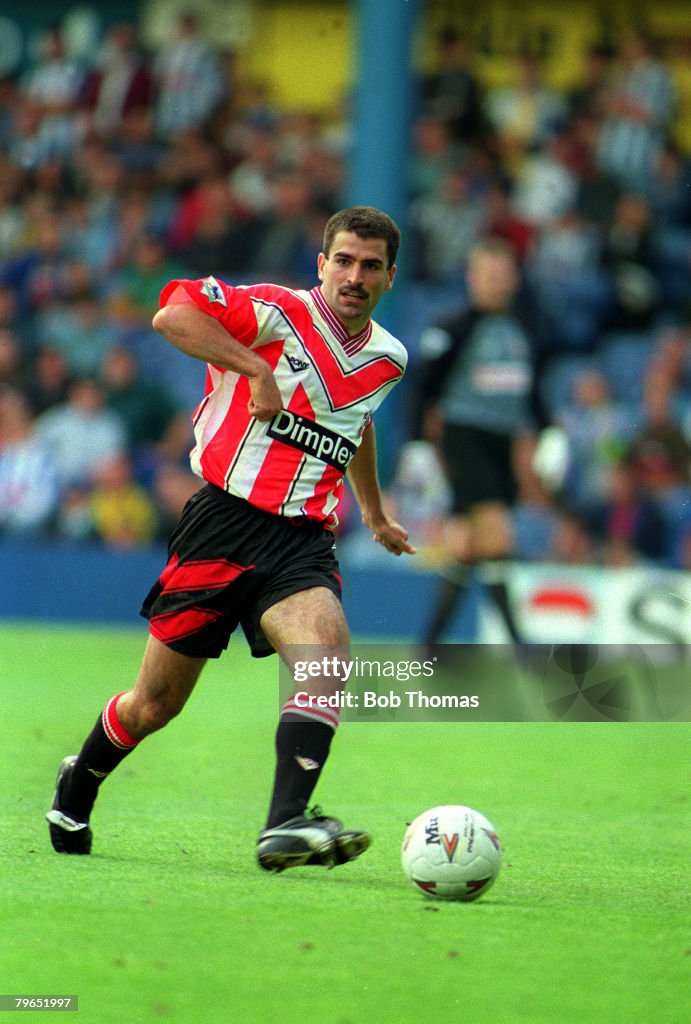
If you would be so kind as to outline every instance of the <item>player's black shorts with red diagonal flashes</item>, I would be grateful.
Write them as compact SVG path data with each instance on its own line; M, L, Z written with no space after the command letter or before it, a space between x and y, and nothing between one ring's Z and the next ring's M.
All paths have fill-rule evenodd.
M264 512L208 483L185 505L141 614L152 636L189 657L219 657L237 625L255 657L272 654L259 626L267 608L310 587L340 600L334 548L320 522Z

